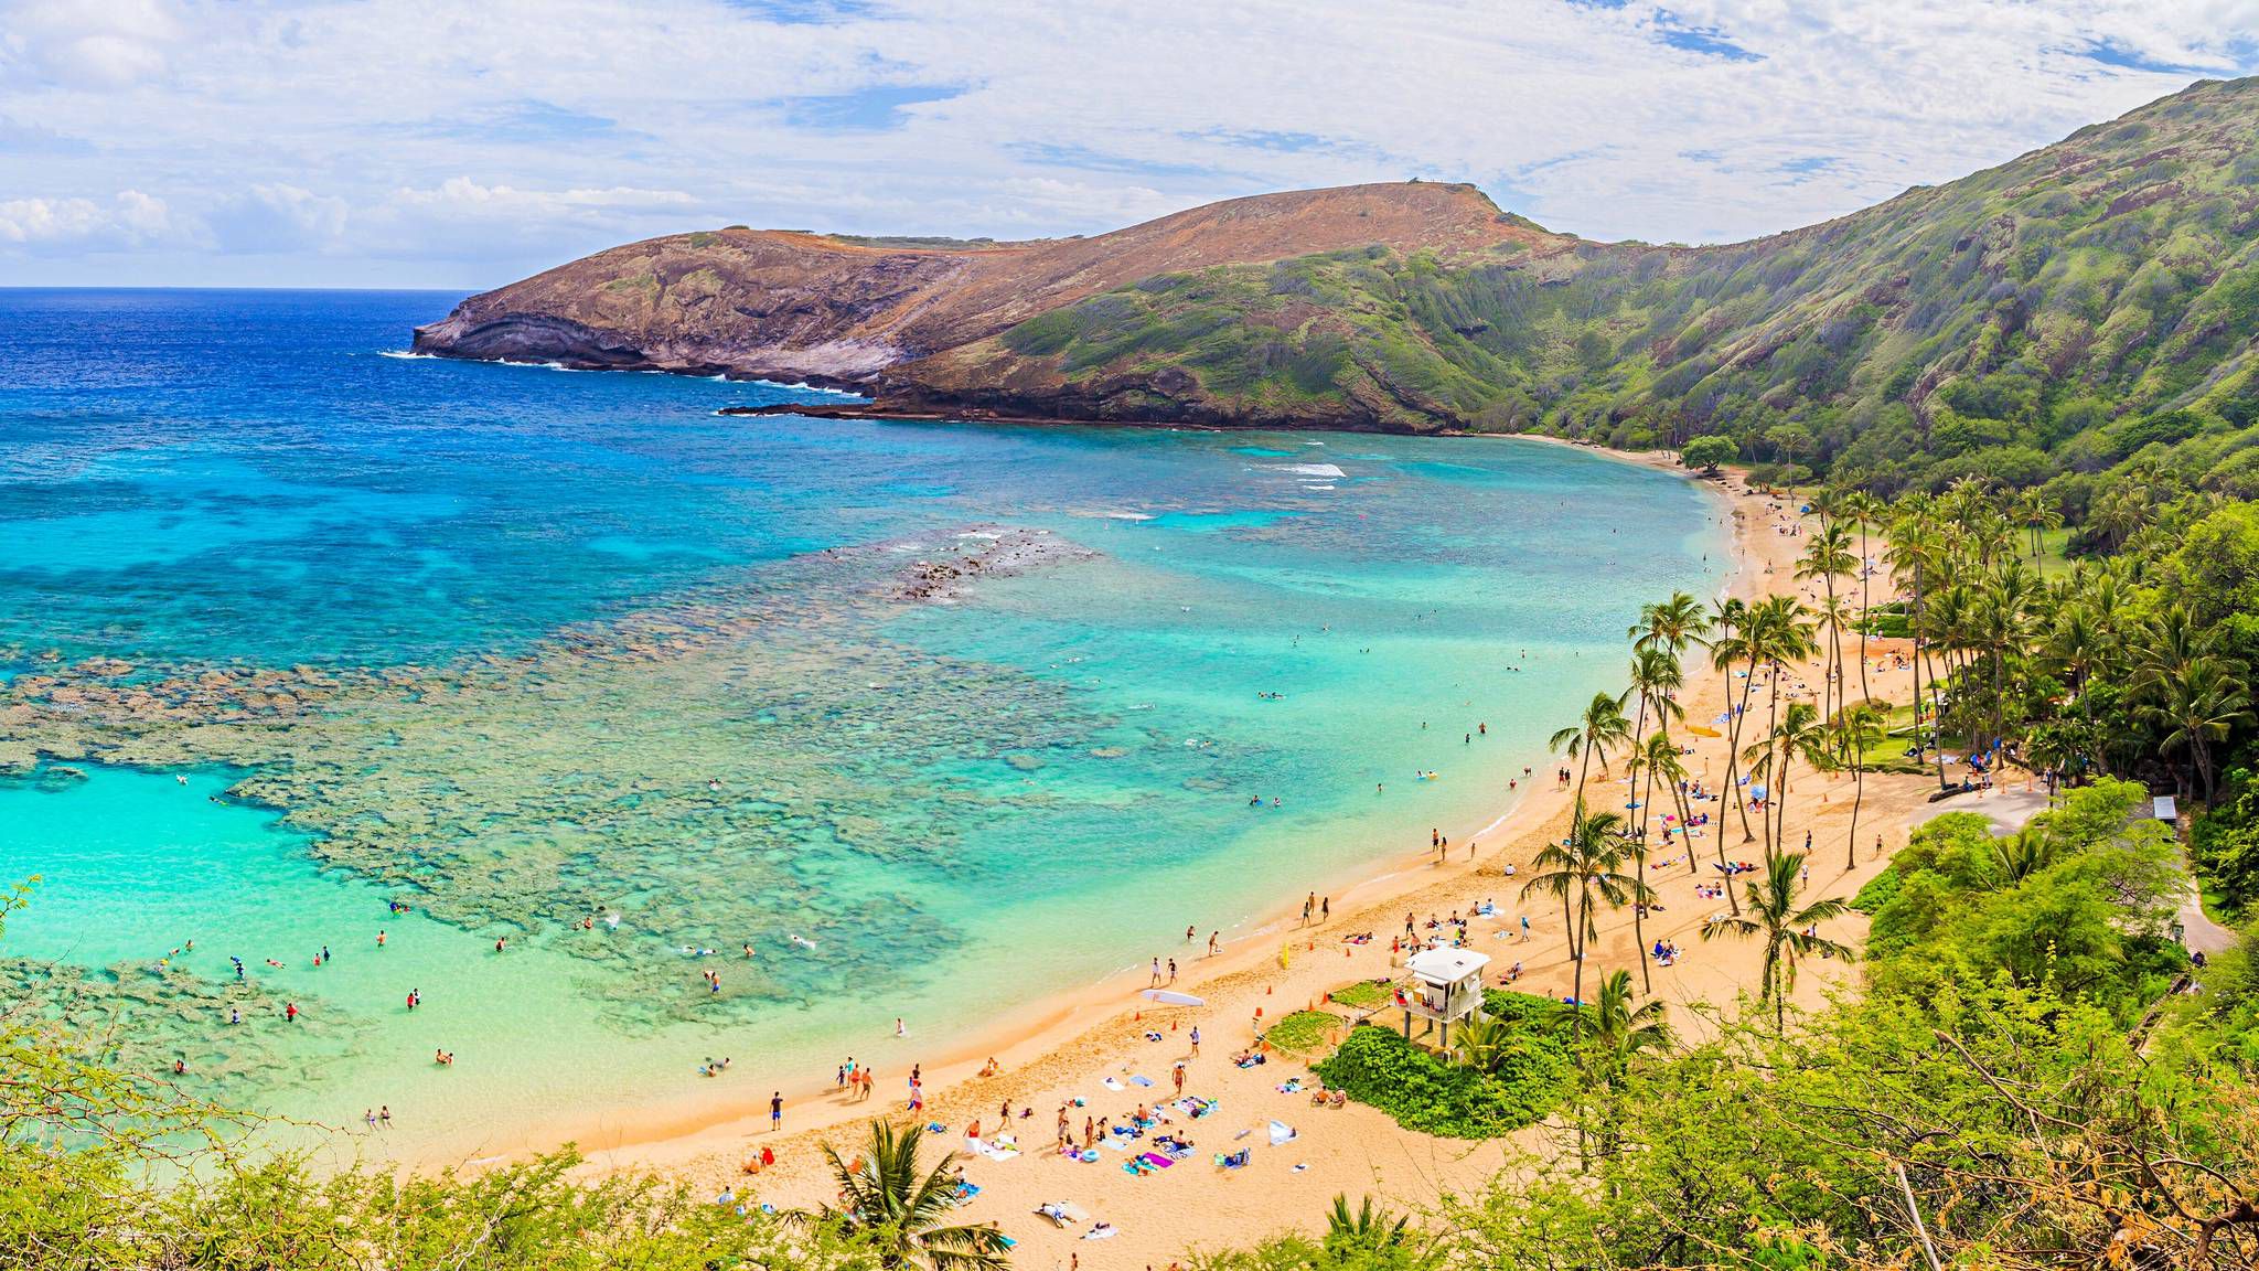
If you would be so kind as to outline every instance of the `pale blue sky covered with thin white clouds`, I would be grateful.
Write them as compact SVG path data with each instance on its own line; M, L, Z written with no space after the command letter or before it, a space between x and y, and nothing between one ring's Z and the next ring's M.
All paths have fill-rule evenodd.
M488 287L1407 176L1721 242L2250 72L2259 0L0 0L0 285Z

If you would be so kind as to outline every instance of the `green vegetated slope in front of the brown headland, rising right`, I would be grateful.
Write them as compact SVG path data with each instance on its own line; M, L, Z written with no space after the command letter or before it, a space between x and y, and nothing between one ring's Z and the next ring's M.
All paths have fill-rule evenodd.
M926 409L1728 432L1875 484L2252 423L2259 79L1730 247L1371 247L1148 278L881 378ZM1796 425L1796 427L1782 427ZM2058 455L2060 450L2067 450ZM1986 452L1986 459L1963 459Z

